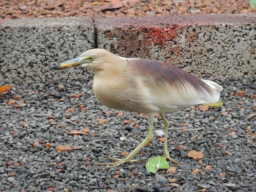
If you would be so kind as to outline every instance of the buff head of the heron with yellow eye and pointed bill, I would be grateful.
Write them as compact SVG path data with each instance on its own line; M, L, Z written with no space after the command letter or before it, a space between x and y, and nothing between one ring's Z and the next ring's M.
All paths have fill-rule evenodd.
M120 59L120 57L115 56L107 50L90 49L84 52L78 58L74 58L72 60L58 64L50 68L50 70L60 70L71 67L84 67L91 70L104 70L111 67L111 65L113 65L113 61L118 59Z

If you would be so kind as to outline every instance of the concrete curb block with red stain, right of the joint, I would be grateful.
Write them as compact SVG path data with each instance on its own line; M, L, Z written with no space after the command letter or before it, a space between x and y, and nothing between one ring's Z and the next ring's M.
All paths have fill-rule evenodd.
M164 60L200 77L256 73L256 15L95 18L98 48Z

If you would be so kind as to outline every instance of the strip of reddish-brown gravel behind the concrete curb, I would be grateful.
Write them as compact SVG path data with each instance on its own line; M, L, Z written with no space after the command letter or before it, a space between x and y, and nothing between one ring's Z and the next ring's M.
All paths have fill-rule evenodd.
M255 13L249 0L1 0L0 18ZM116 9L112 9L115 8ZM110 9L107 9L110 8Z

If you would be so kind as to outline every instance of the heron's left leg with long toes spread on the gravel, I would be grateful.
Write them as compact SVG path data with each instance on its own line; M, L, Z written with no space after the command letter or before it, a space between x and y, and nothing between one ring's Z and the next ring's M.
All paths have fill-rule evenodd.
M150 142L153 138L153 120L154 120L154 115L148 114L148 135L146 138L142 141L141 144L139 144L126 158L124 159L113 159L117 160L117 162L114 163L94 163L94 165L110 165L108 168L112 167L118 167L126 162L132 162L134 160L130 160L136 153L138 153L148 142Z

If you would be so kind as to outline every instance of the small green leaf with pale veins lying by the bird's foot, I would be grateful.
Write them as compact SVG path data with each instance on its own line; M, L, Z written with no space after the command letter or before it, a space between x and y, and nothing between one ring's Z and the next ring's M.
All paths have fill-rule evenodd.
M168 169L168 162L161 156L150 159L146 164L146 169L152 173L156 173L158 169Z

